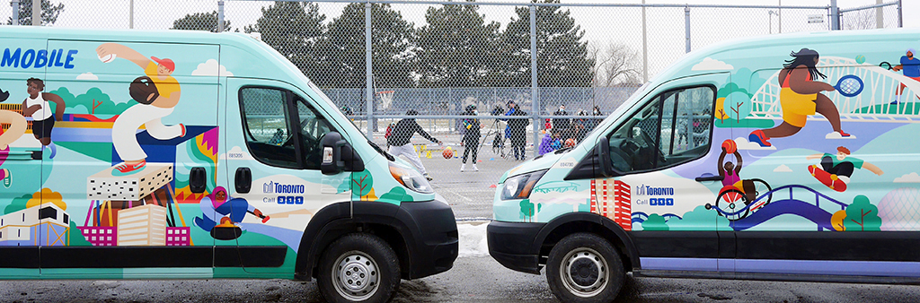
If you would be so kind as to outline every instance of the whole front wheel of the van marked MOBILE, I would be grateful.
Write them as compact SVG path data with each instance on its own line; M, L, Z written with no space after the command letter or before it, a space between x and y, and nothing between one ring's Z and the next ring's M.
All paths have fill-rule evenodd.
M399 287L396 252L372 234L342 236L319 262L316 284L327 302L388 302Z

